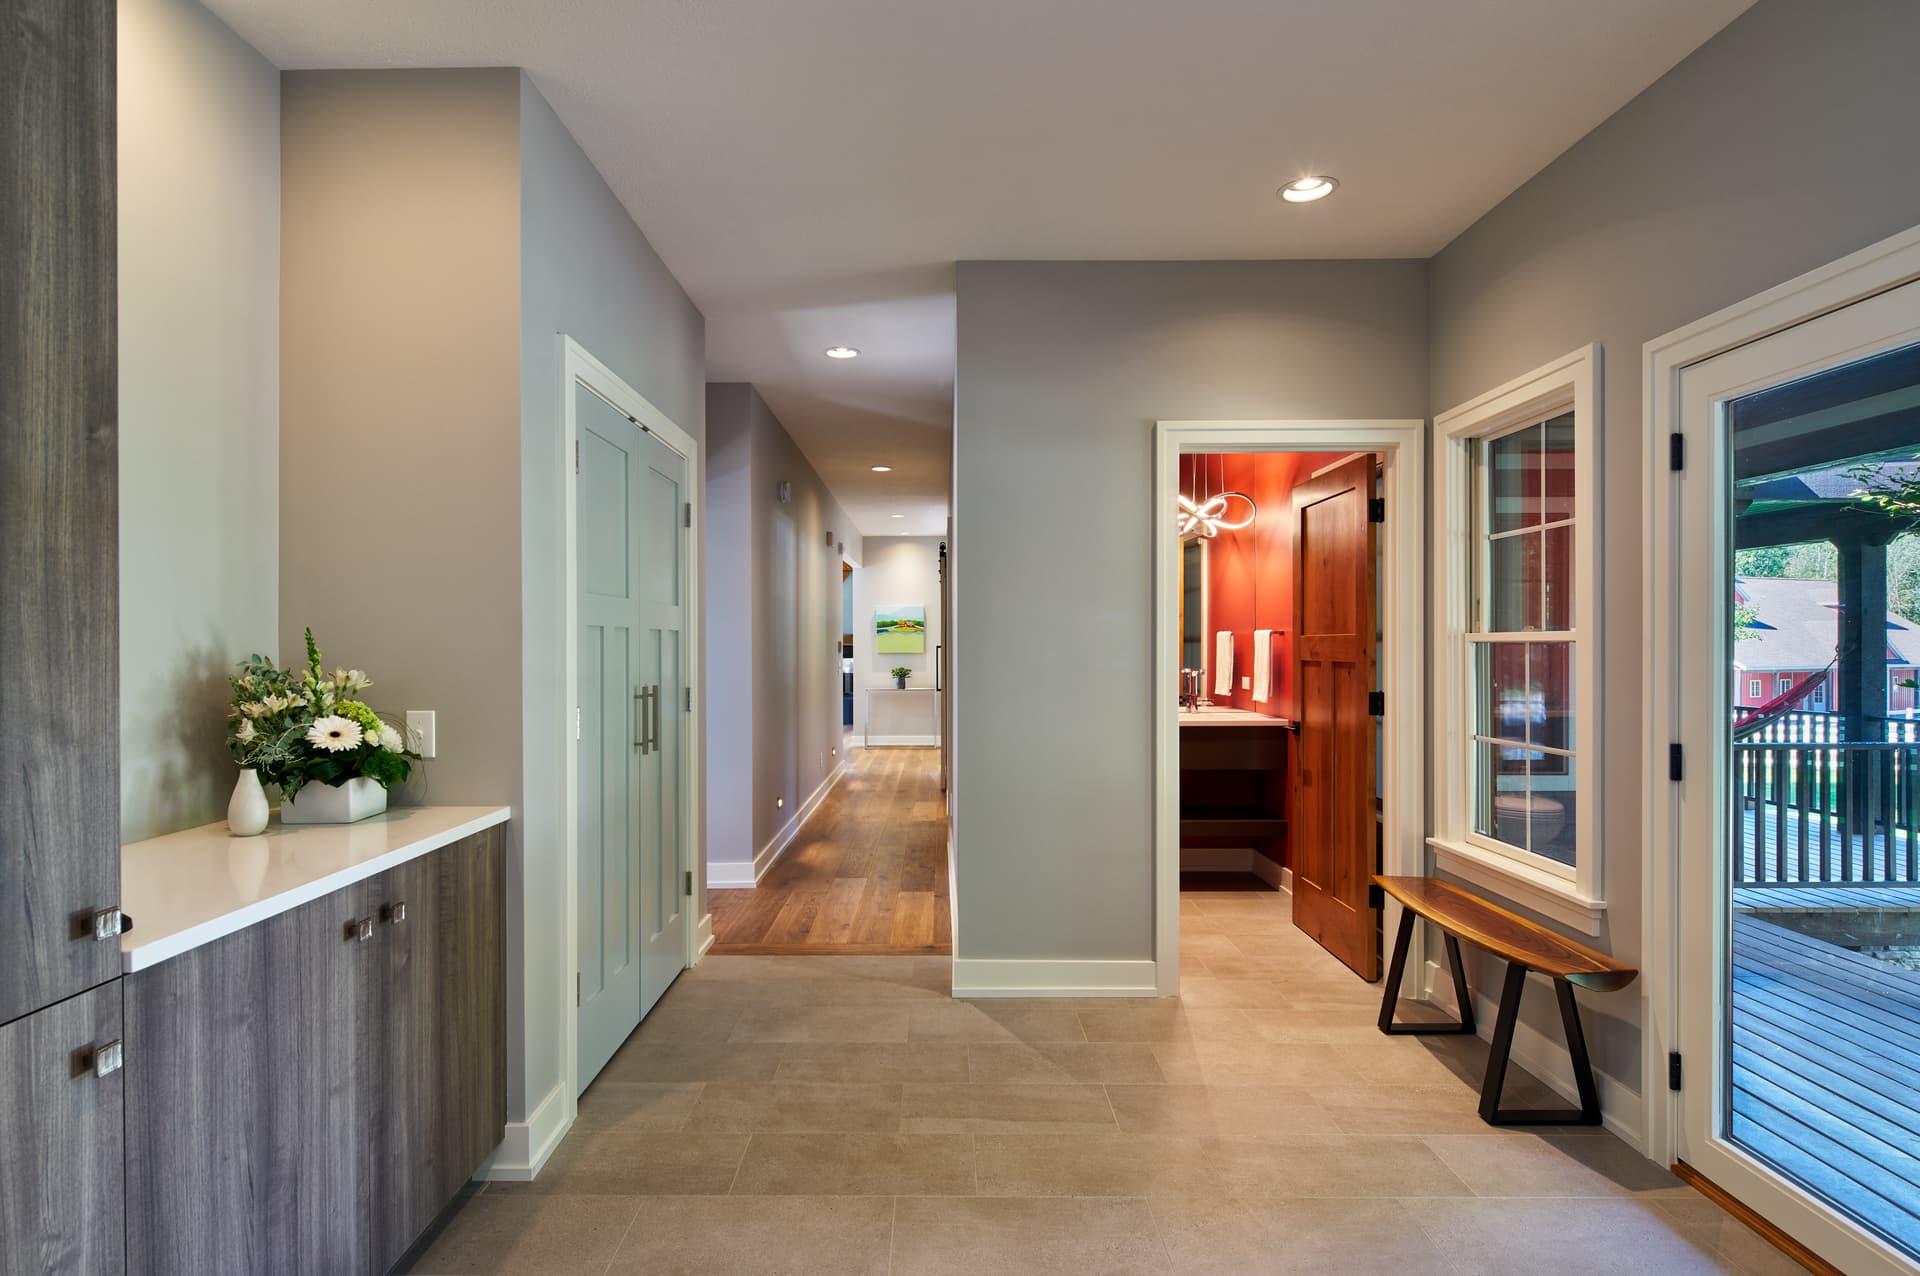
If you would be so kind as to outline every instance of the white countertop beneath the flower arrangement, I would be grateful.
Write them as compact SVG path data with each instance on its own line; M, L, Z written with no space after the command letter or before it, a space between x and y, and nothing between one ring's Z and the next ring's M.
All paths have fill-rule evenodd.
M513 817L511 806L405 806L359 823L234 837L209 823L121 846L125 969L142 971Z

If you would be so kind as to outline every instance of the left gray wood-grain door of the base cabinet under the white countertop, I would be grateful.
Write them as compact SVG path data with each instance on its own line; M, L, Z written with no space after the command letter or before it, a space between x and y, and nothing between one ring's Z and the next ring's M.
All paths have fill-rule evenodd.
M369 1270L361 942L380 879L129 975L134 1272Z

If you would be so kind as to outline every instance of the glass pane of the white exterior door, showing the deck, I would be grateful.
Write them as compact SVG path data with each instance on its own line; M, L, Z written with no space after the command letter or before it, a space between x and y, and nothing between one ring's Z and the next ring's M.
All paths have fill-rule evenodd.
M1920 1255L1920 345L1724 407L1718 1128Z

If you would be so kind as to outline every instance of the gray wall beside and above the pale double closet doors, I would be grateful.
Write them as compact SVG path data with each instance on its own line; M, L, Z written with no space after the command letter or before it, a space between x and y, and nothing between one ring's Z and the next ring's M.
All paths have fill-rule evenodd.
M522 856L518 952L524 988L509 1004L526 1044L526 1075L511 1099L513 1115L520 1117L522 1096L532 1111L561 1084L566 975L572 971L563 839L563 764L572 710L563 666L566 472L559 338L570 336L586 347L699 443L707 418L707 320L532 81L511 75L518 84L520 134L515 257L520 267L515 361L520 399L518 445L511 453L518 461L520 572L515 612L499 622L511 629L509 616L518 616L524 662L524 741L515 741L524 781L513 798ZM695 689L695 704L703 698ZM705 913L701 904L695 917Z

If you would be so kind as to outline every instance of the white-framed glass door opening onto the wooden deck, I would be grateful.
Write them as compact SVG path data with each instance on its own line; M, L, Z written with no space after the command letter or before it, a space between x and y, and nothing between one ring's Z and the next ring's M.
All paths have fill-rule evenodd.
M1920 284L1680 374L1680 1159L1920 1263Z

